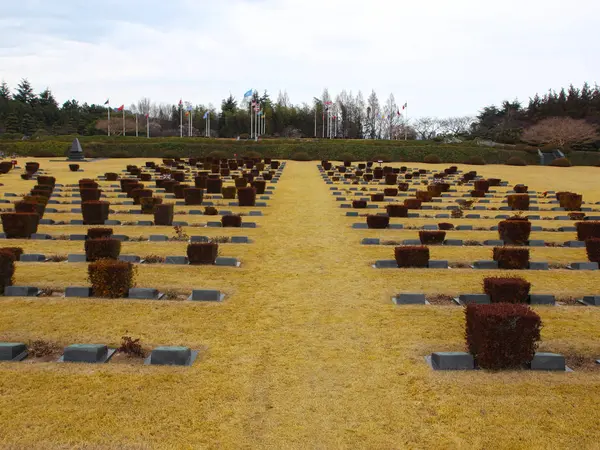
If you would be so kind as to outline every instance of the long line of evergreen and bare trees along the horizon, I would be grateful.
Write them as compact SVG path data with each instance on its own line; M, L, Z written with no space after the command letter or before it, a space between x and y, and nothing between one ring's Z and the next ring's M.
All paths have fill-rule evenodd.
M151 136L178 136L181 116L185 114L182 134L190 134L188 115L191 115L191 134L205 136L204 117L208 113L211 137L246 137L250 132L251 102L260 106L266 117L266 135L273 137L330 134L344 139L460 137L517 144L528 136L529 128L548 118L571 118L594 129L600 125L600 88L597 85L592 88L587 83L581 89L570 86L559 92L551 90L543 96L536 94L526 106L517 100L485 106L474 117L420 117L408 122L402 104L398 104L392 94L380 102L375 91L367 98L360 91L356 95L342 91L333 97L325 89L310 104L299 105L293 104L286 92L279 92L277 98L272 99L267 91L262 94L254 91L250 97L239 100L230 95L218 108L212 104L167 104L142 98L125 108L125 121L122 113L113 112L109 124L108 106L79 103L75 99L59 105L50 89L36 94L29 81L23 79L13 91L5 82L0 84L0 133L5 137L102 135L107 134L110 125L111 134L132 135L138 130L143 136L148 125ZM332 119L328 120L328 116ZM539 133L536 135L539 138ZM587 147L595 144L589 136L582 143Z

